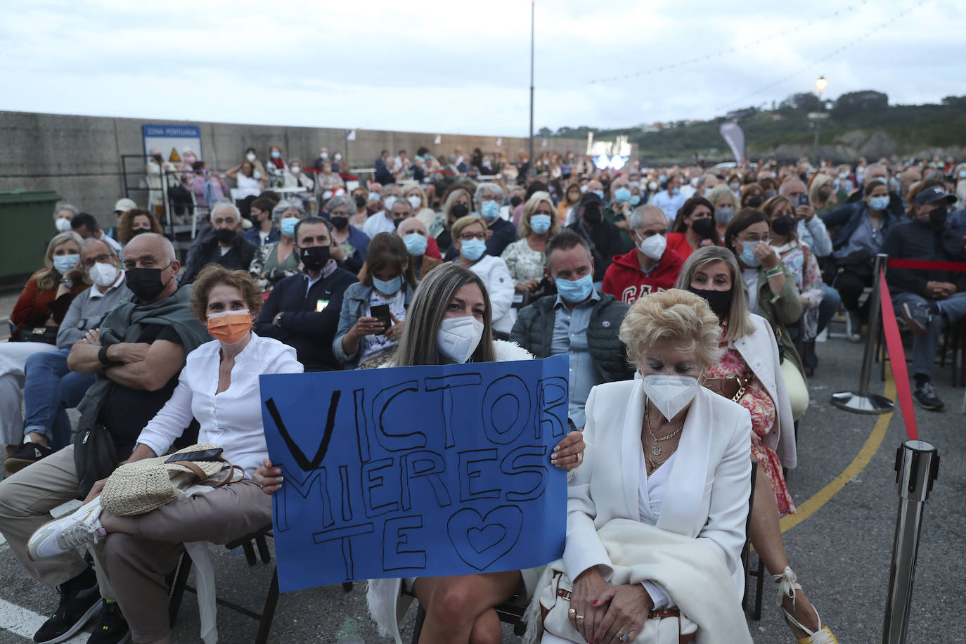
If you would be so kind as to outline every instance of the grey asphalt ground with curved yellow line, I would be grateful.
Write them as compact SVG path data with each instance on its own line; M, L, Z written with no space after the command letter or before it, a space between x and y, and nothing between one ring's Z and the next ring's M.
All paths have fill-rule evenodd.
M800 423L799 465L788 476L788 486L800 513L808 515L784 532L784 544L798 574L825 623L838 641L881 641L883 612L889 582L890 557L898 498L895 490L895 449L905 438L897 409L887 416L854 414L828 403L833 392L855 389L862 346L830 339L817 346L819 366L810 378L811 405ZM966 496L964 441L966 416L959 413L963 389L952 388L949 365L937 365L933 380L946 401L943 412L917 408L919 434L932 442L942 458L939 479L926 503L908 642L966 642ZM874 370L873 392L894 392ZM844 479L842 478L845 474ZM837 485L837 480L841 485ZM836 491L840 487L840 490ZM830 490L831 489L831 490ZM830 494L834 491L834 494ZM797 519L784 519L783 525ZM269 587L270 566L248 568L240 551L212 546L219 597L252 607L260 606ZM770 581L765 584L762 617L749 621L756 644L792 642L775 606ZM4 603L9 602L9 603ZM56 605L56 594L23 572L8 546L0 546L0 642L20 644L29 624L3 623L40 617ZM12 612L13 611L13 612ZM411 608L403 623L403 637L412 633ZM37 622L39 623L39 622ZM174 641L196 642L198 609L185 595L174 630ZM91 628L89 625L88 629ZM220 607L220 641L252 641L255 623ZM338 642L357 636L364 642L382 640L368 617L365 584L349 594L340 586L283 595L272 624L271 642ZM84 642L86 635L75 640ZM358 640L348 640L355 641ZM504 642L517 639L504 628Z

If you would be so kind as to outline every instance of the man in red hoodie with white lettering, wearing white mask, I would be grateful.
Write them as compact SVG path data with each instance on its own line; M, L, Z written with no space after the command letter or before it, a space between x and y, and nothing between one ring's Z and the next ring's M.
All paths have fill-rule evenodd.
M684 260L668 248L668 217L663 210L639 206L629 223L634 250L613 258L601 292L633 304L644 295L673 287Z

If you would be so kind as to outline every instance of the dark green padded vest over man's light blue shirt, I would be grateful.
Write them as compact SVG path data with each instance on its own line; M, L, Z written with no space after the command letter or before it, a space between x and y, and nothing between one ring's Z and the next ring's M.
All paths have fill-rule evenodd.
M634 378L634 368L628 363L624 343L617 337L630 305L611 294L600 296L587 323L590 357L605 382ZM556 297L548 295L521 309L510 331L510 342L517 343L535 357L549 357L554 339L555 302Z

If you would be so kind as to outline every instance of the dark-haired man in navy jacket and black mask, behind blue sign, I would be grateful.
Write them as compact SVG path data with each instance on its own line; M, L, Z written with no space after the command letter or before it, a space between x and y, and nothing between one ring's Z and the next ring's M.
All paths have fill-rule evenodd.
M332 353L342 297L355 275L339 268L331 224L322 217L305 217L293 231L302 271L271 290L255 322L255 332L295 347L306 371L332 371L341 366Z

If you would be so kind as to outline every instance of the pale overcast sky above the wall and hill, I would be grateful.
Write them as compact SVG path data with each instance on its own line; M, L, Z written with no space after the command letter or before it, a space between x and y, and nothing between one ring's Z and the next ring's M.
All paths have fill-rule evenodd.
M526 0L178 5L3 2L0 109L526 136ZM964 32L960 0L537 0L534 129L708 119L822 74L939 102L966 95Z

